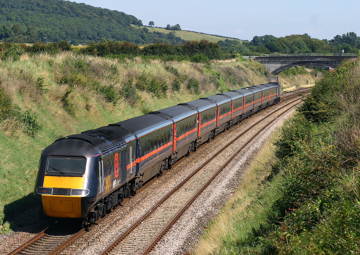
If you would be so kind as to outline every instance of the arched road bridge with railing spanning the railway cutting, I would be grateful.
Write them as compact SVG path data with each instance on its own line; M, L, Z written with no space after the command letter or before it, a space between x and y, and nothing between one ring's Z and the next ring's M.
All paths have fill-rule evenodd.
M318 65L329 68L337 66L356 54L267 54L255 57L255 60L265 66L265 69L275 75L281 71L299 65Z

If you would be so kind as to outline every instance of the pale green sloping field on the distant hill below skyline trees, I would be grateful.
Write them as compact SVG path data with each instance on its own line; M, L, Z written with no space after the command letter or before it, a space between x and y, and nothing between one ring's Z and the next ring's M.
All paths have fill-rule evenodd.
M139 27L139 26L135 26L133 24L131 24L131 26L135 27L135 28L139 28L139 29L146 27L146 26ZM208 40L211 42L218 42L220 40L224 41L225 39L229 39L229 40L237 40L237 41L243 42L243 40L225 38L225 37L220 37L220 36L211 36L210 34L201 34L201 33L184 31L184 30L172 31L172 30L167 30L165 28L158 28L158 27L146 27L146 28L149 29L149 32L158 31L158 32L167 33L167 34L170 32L175 32L175 36L180 37L181 39L184 39L184 40L188 40L188 41L205 39L205 40Z

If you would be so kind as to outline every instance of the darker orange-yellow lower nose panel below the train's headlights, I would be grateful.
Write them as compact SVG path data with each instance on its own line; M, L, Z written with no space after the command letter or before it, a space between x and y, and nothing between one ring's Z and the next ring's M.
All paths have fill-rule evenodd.
M49 217L80 218L81 196L41 195L45 214Z

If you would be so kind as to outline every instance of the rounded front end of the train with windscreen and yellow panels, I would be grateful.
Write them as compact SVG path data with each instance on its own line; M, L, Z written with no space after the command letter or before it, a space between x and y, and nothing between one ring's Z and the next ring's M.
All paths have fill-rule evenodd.
M85 218L98 198L101 153L84 140L62 139L41 154L34 195L48 217Z

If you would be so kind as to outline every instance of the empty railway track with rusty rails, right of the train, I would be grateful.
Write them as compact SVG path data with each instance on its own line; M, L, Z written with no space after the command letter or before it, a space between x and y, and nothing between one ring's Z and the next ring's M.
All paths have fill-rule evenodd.
M296 96L297 97L297 96ZM216 177L216 175L233 159L253 138L262 130L275 121L279 116L292 109L300 102L297 98L286 105L278 108L257 121L252 126L239 134L231 142L226 144L211 158L194 170L188 177L180 182L174 189L167 193L152 208L144 213L138 221L132 224L100 255L116 254L147 254L168 228L184 212L190 203L201 191ZM288 107L280 115L273 117L266 124L261 122L275 115L275 112Z

